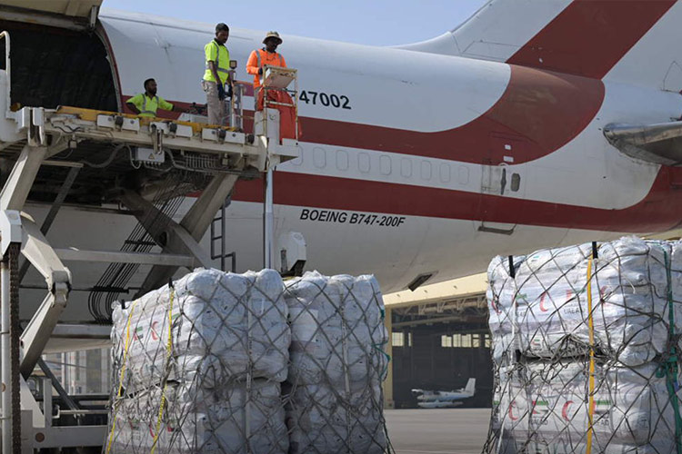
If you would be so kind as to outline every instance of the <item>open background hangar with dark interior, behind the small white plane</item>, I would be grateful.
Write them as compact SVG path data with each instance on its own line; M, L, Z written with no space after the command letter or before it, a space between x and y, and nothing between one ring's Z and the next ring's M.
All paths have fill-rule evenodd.
M476 379L463 407L492 405L493 365L487 327L486 274L386 294L391 356L386 408L414 408L412 389L456 390Z

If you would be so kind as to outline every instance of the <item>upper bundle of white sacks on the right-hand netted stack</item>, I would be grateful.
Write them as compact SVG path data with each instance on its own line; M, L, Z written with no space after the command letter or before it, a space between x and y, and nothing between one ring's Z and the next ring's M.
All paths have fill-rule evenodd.
M673 292L682 295L681 248L679 243L635 237L599 246L591 270L597 350L631 366L665 352L669 326L666 261ZM520 261L512 281L505 278L508 271L501 270L508 270L508 260L497 257L488 269L494 336L508 341L515 329L517 350L530 357L586 354L591 252L591 244L535 252ZM506 285L500 287L500 278ZM674 311L674 330L680 333L682 306L676 304Z

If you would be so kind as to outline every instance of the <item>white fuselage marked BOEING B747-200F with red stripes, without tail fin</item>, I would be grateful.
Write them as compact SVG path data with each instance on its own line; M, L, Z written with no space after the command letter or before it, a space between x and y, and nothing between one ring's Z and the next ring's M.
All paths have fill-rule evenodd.
M200 79L212 25L119 12L100 21L121 105L149 77L172 103L206 102ZM264 35L231 32L238 80L252 80L246 59ZM298 70L303 136L300 156L276 170L275 237L303 233L306 270L371 272L396 291L420 274L432 274L430 283L483 271L496 254L682 221L682 173L619 153L602 132L608 123L677 118L676 92L295 36L278 51ZM227 247L240 270L262 266L262 200L260 181L240 182L227 209ZM111 231L102 249L117 249L134 225L78 216ZM67 230L55 225L56 246Z

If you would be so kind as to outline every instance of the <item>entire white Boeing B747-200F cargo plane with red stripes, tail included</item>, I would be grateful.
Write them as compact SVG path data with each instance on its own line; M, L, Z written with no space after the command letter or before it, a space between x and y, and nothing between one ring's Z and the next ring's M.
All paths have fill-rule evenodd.
M0 4L13 36L13 100L122 110L148 77L172 103L206 100L199 82L213 24L102 10L92 33L87 6L98 1ZM237 79L251 81L246 59L265 32L218 20L232 21ZM275 173L275 238L302 233L306 270L371 272L395 291L484 271L496 254L676 228L680 24L675 0L491 0L424 43L284 35L303 136L299 157ZM134 219L95 210L97 194L88 196L93 209L65 206L48 239L118 249ZM240 270L262 266L262 202L262 182L243 181L226 209ZM48 206L29 211L40 220ZM75 224L109 243L75 237ZM93 286L103 271L74 271L74 285ZM29 273L25 283L41 279ZM89 320L86 307L74 294L63 320Z

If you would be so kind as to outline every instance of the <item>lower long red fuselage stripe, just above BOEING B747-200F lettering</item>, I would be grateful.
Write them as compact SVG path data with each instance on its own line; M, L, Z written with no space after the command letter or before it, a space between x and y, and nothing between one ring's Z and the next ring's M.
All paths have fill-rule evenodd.
M288 172L275 173L274 196L276 204L322 209L603 232L663 232L682 222L682 190L672 189L681 179L682 169L662 168L647 196L623 210ZM263 182L238 182L233 200L263 202Z

